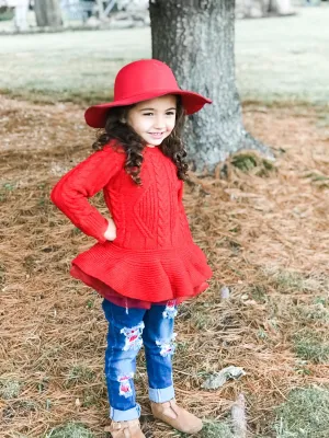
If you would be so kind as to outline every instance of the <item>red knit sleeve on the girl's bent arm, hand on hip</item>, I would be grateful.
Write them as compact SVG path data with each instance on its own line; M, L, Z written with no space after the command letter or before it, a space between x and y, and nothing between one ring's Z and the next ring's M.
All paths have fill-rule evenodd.
M100 192L122 169L124 154L112 147L92 153L76 165L55 185L52 201L82 232L104 243L107 220L93 207L88 198Z

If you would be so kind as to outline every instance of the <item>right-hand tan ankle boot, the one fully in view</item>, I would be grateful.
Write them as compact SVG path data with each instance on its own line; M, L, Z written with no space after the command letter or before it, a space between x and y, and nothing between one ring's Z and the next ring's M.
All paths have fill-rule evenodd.
M202 420L179 407L174 399L166 403L151 402L151 411L156 418L162 419L162 422L185 434L196 434L202 429Z

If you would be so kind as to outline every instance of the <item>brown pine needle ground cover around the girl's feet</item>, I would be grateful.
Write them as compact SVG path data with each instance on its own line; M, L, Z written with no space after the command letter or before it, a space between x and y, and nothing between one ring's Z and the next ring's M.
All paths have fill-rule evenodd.
M0 436L105 437L106 324L101 300L70 261L94 242L49 201L86 158L82 108L0 97ZM178 401L202 416L202 438L232 436L229 410L247 400L250 435L329 436L329 126L317 108L245 105L245 122L276 161L243 152L222 176L191 174L184 204L214 278L180 307ZM105 214L100 195L92 203ZM229 298L220 298L220 289ZM202 385L228 366L246 376ZM181 437L154 422L144 357L136 376L147 437Z

